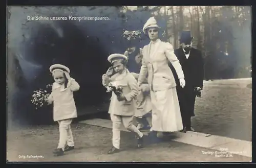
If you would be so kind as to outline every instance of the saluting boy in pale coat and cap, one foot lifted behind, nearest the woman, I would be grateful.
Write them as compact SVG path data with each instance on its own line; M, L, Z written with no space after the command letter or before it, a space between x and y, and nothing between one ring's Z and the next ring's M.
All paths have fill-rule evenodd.
M123 126L138 135L138 148L142 147L143 133L133 125L133 116L135 112L134 99L138 94L138 84L133 75L125 68L127 57L122 54L112 54L108 57L112 67L102 76L102 84L108 87L111 83L113 86L122 87L122 93L116 94L112 91L112 97L109 107L112 128L113 147L108 152L113 154L120 150L120 126ZM113 71L114 70L114 71Z

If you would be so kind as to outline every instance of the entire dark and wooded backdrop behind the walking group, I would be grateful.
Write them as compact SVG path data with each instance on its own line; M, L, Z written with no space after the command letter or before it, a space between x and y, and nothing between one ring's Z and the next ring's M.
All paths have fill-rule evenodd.
M110 20L27 20L32 15L104 16ZM124 53L131 43L122 38L123 32L142 31L151 16L167 32L161 40L175 49L180 45L180 32L191 31L193 45L204 57L206 80L251 76L249 6L12 6L7 13L8 123L52 122L52 108L35 110L30 99L34 90L53 82L49 67L55 63L72 69L71 76L81 86L74 94L78 112L97 111L110 99L99 78L110 66L106 58ZM148 44L143 33L141 38L133 45Z

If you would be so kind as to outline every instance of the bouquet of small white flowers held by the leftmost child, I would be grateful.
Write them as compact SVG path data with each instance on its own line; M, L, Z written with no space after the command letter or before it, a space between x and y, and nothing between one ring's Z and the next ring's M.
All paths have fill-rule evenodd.
M35 105L35 109L38 109L47 103L47 99L50 95L48 88L51 88L51 84L48 84L46 88L47 89L40 88L39 90L33 91L31 102Z

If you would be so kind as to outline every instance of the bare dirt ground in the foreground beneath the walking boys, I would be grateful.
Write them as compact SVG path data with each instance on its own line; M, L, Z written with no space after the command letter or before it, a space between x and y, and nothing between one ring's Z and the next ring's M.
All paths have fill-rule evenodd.
M73 124L72 125L76 149L67 152L64 156L54 157L52 150L58 143L58 129L55 126L40 126L22 128L7 133L7 159L9 161L250 161L250 158L232 155L227 158L203 154L203 151L213 151L205 148L186 145L170 140L168 137L162 141L147 145L144 149L136 149L136 139L129 132L121 133L121 152L119 154L106 154L112 146L111 129ZM146 140L147 142L147 140ZM37 155L44 158L19 158L21 156ZM184 157L185 156L185 157Z

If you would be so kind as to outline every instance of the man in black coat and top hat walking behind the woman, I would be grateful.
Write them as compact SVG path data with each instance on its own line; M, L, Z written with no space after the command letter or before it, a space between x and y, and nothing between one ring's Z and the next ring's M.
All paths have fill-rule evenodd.
M186 86L184 88L180 87L177 74L172 65L170 65L176 78L177 94L183 122L182 132L194 131L191 127L191 117L195 116L196 97L201 96L200 91L203 89L204 61L201 51L191 46L192 39L190 31L181 32L181 47L175 50L175 55L180 61L185 76Z

